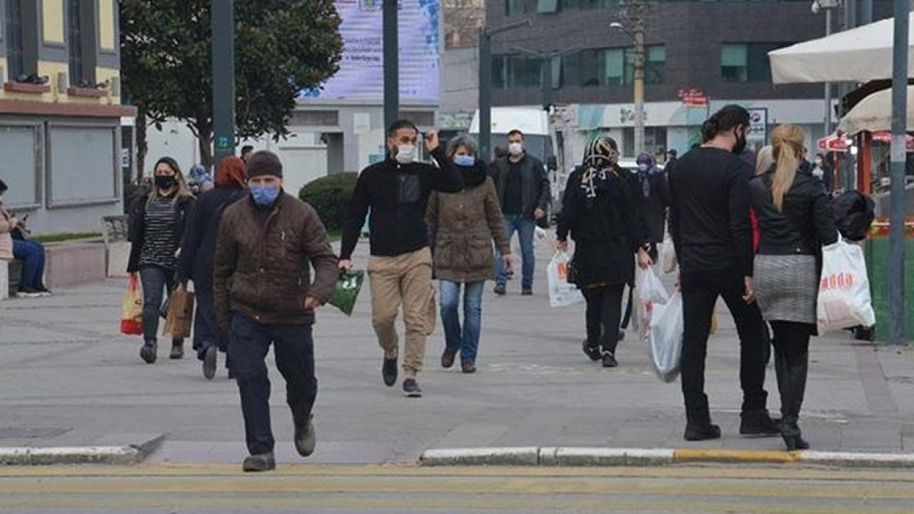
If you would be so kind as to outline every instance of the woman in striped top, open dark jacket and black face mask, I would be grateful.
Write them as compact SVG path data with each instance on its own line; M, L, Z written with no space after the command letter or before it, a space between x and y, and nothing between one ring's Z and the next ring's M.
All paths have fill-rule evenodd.
M153 190L138 198L130 214L128 239L132 243L127 273L140 273L143 284L143 347L140 358L155 362L159 309L163 290L175 288L177 257L184 237L187 215L194 197L175 159L162 157L155 163ZM184 357L184 339L172 340L171 359Z

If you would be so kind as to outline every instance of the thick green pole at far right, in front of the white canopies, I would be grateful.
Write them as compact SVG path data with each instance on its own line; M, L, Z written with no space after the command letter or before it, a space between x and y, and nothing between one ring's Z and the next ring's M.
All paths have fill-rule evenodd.
M892 50L892 213L888 239L888 341L905 342L905 139L908 130L909 0L895 0L895 41ZM908 313L910 316L910 313Z

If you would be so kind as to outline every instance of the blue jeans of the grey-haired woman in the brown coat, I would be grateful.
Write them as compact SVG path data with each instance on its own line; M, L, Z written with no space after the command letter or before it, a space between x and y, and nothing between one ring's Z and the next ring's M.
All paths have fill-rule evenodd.
M463 292L463 330L460 327L460 286L459 282L442 280L441 325L447 349L460 350L460 359L476 361L479 349L479 333L483 325L484 281L468 282Z

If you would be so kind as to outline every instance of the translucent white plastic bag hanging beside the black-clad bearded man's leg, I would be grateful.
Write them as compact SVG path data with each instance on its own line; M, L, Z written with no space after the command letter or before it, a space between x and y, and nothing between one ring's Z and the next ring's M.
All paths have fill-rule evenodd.
M676 291L665 304L654 305L651 320L651 362L664 382L672 382L679 375L684 331L683 297Z

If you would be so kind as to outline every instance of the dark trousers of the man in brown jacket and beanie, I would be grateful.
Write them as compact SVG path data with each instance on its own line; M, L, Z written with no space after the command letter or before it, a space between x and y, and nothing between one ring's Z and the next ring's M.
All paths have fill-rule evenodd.
M286 402L296 425L308 423L317 398L311 326L261 325L236 314L232 318L228 353L238 380L250 455L272 452L275 445L270 423L270 377L264 362L271 343L276 367L286 380Z

